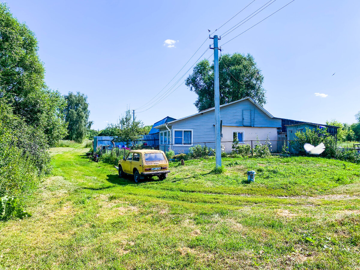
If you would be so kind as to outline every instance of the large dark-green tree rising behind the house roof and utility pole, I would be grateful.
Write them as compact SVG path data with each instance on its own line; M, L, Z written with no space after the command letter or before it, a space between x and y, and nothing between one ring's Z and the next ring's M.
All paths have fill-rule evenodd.
M194 105L198 111L214 107L214 64L210 66L208 60L202 60L193 69L193 73L185 80L190 91L194 91L198 98ZM259 74L257 75L257 72ZM260 105L266 103L265 92L262 87L264 76L256 66L252 55L234 53L219 57L219 85L220 105L251 96Z

